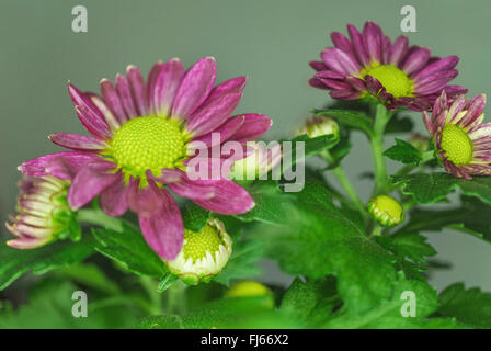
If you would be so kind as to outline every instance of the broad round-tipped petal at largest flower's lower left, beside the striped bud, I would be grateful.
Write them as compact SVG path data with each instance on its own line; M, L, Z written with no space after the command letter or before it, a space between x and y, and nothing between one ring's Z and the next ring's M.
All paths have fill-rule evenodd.
M113 172L114 163L100 160L82 168L68 191L68 203L73 210L87 205L104 189L117 181L121 174Z

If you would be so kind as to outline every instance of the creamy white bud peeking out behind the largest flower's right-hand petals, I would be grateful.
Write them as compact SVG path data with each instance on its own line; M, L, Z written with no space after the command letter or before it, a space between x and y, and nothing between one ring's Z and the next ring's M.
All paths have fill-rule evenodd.
M269 147L264 141L249 141L248 156L233 162L229 178L236 180L255 180L274 169L282 160L282 146Z

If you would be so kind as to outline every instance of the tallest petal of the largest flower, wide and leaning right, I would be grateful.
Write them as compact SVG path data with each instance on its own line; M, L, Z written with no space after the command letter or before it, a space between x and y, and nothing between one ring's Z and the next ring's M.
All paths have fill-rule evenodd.
M194 64L185 73L175 95L172 115L185 118L208 98L215 82L217 65L213 57L205 57Z

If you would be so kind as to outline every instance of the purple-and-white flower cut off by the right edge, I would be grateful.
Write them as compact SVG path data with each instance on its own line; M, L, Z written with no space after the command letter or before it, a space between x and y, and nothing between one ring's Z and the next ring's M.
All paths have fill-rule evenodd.
M482 123L484 105L484 94L471 101L461 95L449 103L443 91L432 117L423 113L438 158L449 174L465 179L491 176L491 123Z

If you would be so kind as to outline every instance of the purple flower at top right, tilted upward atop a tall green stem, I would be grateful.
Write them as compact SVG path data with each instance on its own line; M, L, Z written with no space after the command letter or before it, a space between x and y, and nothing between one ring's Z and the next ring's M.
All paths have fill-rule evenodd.
M366 22L363 32L347 25L350 39L333 32L335 47L321 53L321 61L311 61L317 70L310 84L330 91L340 100L373 95L390 110L406 106L414 111L431 110L439 92L449 98L467 92L460 86L448 86L457 77L457 56L432 57L429 48L409 46L406 36L393 44L381 29Z

